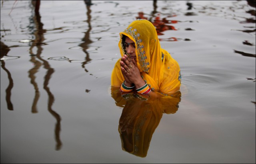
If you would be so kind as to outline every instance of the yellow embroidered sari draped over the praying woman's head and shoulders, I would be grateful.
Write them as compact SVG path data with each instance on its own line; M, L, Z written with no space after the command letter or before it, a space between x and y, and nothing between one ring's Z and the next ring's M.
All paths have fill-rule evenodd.
M136 45L136 60L143 80L152 91L172 94L180 90L180 66L170 53L162 49L156 28L148 20L135 20L120 33L118 47L121 57L126 53L122 36L126 35ZM111 86L120 87L124 82L120 68L120 60L116 62L111 76Z

